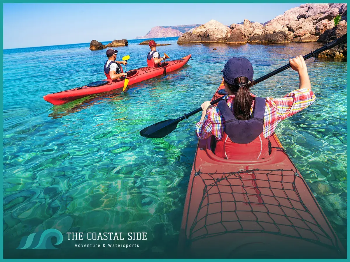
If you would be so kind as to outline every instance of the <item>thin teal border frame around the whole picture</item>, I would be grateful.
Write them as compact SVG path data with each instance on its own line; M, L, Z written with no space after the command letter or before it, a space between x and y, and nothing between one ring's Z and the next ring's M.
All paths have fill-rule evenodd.
M287 3L298 3L300 1L297 0L288 0ZM310 1L311 3L329 3L331 1ZM346 3L347 1L332 1L334 3ZM60 1L54 1L54 0L34 0L34 1L26 1L26 0L14 0L14 1L4 1L4 3L286 3L282 0L250 0L250 1L244 1L244 0L120 0L120 1L116 1L116 0L112 0L112 1L99 1L97 2L96 0L60 0ZM309 2L306 2L309 3ZM3 57L3 4L1 5L1 14L2 14L2 19L1 19L1 57ZM348 41L349 41L349 36L348 36ZM349 62L349 57L347 57L347 63ZM3 67L3 65L1 66ZM347 80L349 80L349 69L347 68ZM1 71L1 86L3 83L3 70ZM347 90L348 90L348 95L347 95L347 102L349 104L349 83L347 86ZM2 159L3 159L3 88L1 88L1 125L2 125L2 129L1 129L1 155L2 155ZM349 122L347 123L347 129L349 130ZM347 143L347 146L349 147L349 140ZM350 167L349 167L349 159L347 161L348 163L348 169L347 172L349 173ZM3 165L1 166L1 173L3 173ZM3 188L3 179L1 179L1 184L2 184L2 188ZM1 190L0 192L0 196L1 198L3 198L3 190ZM3 213L3 205L1 205L1 211ZM349 215L349 208L347 209L347 213ZM349 222L349 219L347 220L347 222ZM350 228L349 226L347 227L347 235L349 236L349 232L350 232ZM1 234L2 237L0 238L0 245L2 246L0 253L1 253L1 259L4 261L30 261L30 262L37 262L38 259L3 259L3 224L1 224ZM347 250L347 253L349 253L349 242L347 241L347 246L344 247ZM295 250L297 252L297 250ZM103 259L103 258L101 258ZM89 261L97 261L97 260L101 260L101 259L90 259ZM54 259L55 261L85 261L86 259ZM103 261L127 261L127 262L137 262L140 261L140 259L103 259ZM147 262L151 262L151 261L199 261L197 259L143 259L141 261L147 261ZM339 259L336 261L347 261L348 259ZM40 261L52 261L52 259L40 259ZM200 261L271 261L270 259L201 259ZM319 261L318 259L279 259L279 261ZM334 261L331 259L324 259L322 261Z

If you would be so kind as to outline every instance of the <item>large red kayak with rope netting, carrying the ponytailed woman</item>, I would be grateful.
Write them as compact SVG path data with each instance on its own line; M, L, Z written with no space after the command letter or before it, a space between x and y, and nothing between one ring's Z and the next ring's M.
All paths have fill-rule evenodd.
M221 97L215 93L213 100ZM221 92L220 92L221 93ZM180 230L191 258L345 258L345 250L276 134L256 161L222 159L199 140ZM243 156L242 156L243 157Z

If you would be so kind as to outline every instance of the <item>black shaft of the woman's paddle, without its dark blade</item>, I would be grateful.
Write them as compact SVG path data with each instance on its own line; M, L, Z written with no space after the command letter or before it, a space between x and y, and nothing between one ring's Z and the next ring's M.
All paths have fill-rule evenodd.
M345 35L343 35L342 37L339 37L337 39L335 39L332 42L329 42L328 44L322 46L319 49L316 49L315 51L311 51L310 53L308 53L306 56L303 56L304 60L309 59L310 57L315 57L317 54L322 53L325 50L331 49L334 46L346 43L346 37L347 37L348 33L345 33ZM282 71L285 71L286 69L288 69L290 67L290 64L288 63L285 66L282 66L274 71L272 71L271 73L268 73L260 78L258 78L257 80L253 80L252 86L256 85L257 83L260 83L261 81L264 81L270 77L272 77L275 74L278 74ZM217 102L219 102L222 99L222 97L215 99L214 101L212 101L210 104L216 104ZM189 116L193 116L195 114L197 114L198 112L202 111L202 108L197 108L196 110L193 110L192 112L189 112L188 114L184 114L183 116L179 117L178 119L181 119L180 121L182 121L183 119L188 119ZM180 122L179 121L179 122Z

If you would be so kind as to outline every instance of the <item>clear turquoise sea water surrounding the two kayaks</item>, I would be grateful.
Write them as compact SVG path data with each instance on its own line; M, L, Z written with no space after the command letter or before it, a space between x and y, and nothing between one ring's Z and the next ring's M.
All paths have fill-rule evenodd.
M127 70L146 66L149 48L138 45L143 40L117 48L119 59L131 57ZM172 256L197 144L194 126L200 115L183 121L162 139L141 137L139 131L210 100L230 57L248 58L257 79L285 65L288 58L321 46L179 46L176 38L157 42L171 44L159 46L160 53L172 59L191 53L193 60L178 71L130 86L123 94L110 92L61 106L52 106L43 95L104 79L105 50L90 51L89 44L4 50L5 256L20 256L13 250L22 236L51 227L64 235L147 232L147 241L133 242L139 248L107 253L111 257L115 257L113 252L126 257ZM24 68L18 67L19 61L25 62ZM345 244L347 63L311 58L307 65L316 102L281 122L276 133ZM298 86L297 73L289 69L254 86L252 92L280 97ZM72 253L72 243L64 241L57 257L102 257L85 249Z

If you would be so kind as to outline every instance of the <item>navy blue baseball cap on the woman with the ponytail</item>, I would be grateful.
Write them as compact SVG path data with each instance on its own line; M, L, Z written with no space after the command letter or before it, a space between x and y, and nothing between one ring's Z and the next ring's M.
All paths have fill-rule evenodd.
M225 81L233 85L237 77L246 77L248 81L253 80L253 66L248 59L242 57L230 58L222 70Z

